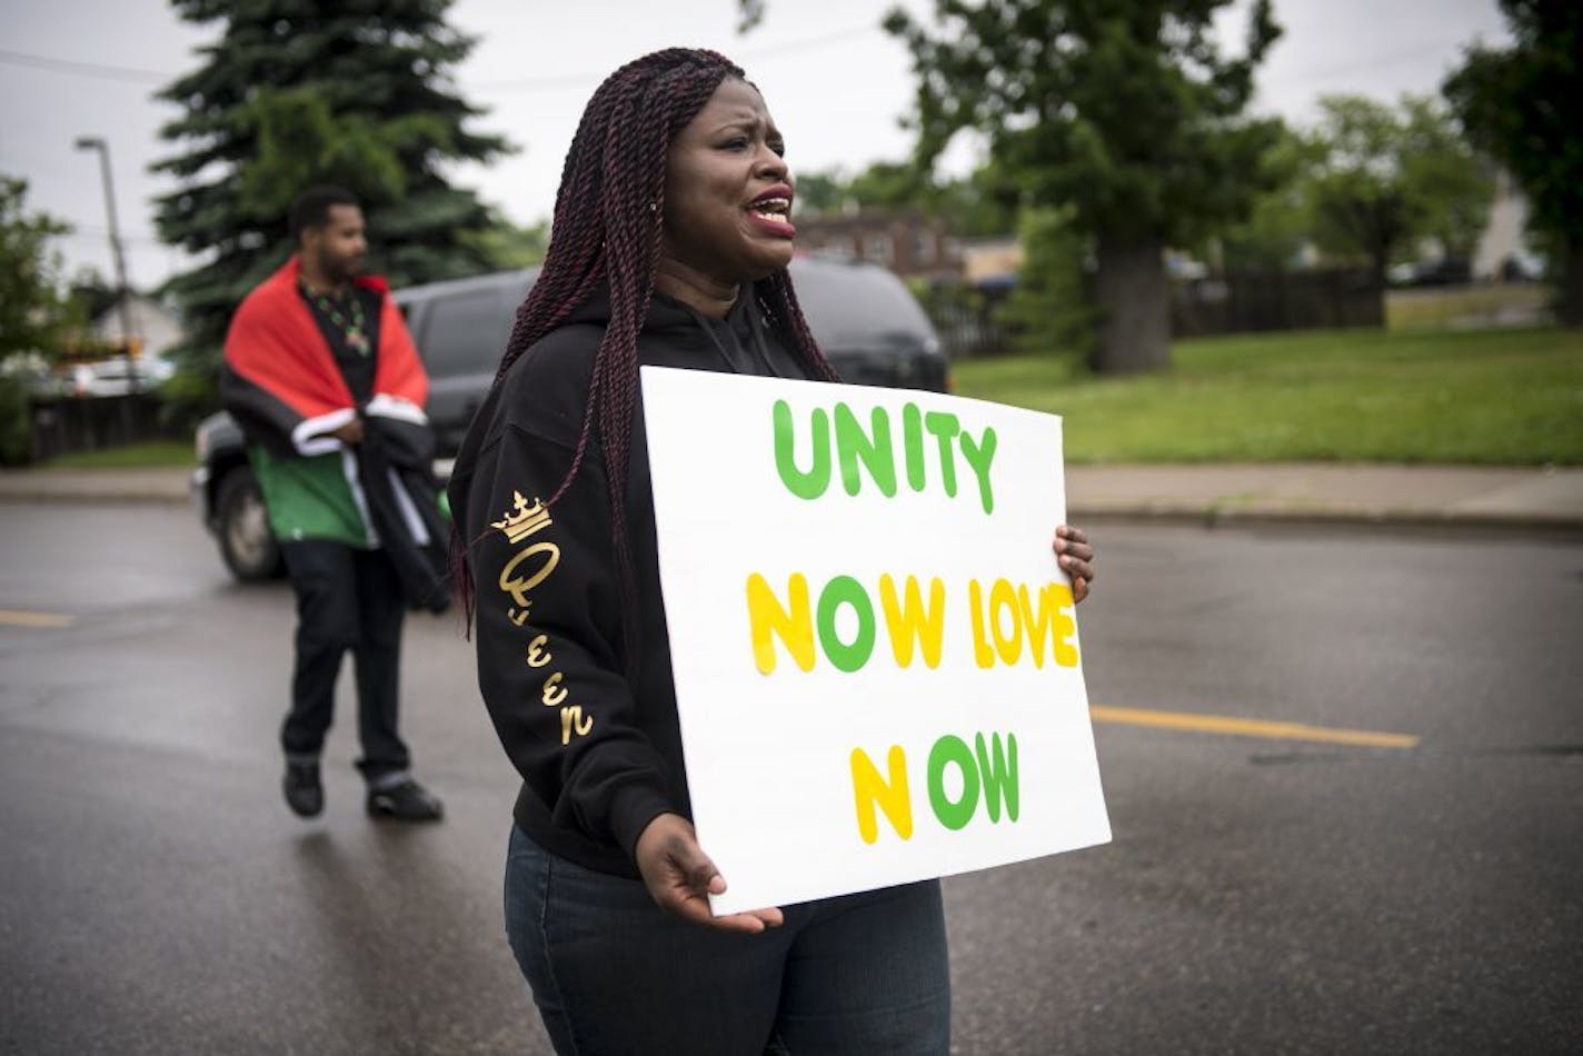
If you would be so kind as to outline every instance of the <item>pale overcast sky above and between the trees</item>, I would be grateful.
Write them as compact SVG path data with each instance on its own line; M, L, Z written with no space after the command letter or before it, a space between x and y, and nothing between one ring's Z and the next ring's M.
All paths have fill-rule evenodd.
M622 62L666 46L731 55L760 85L798 169L905 157L899 117L912 100L902 44L879 28L898 0L771 0L749 36L736 0L456 0L451 24L478 38L456 70L461 93L489 112L480 131L521 150L489 168L459 166L511 220L548 217L560 161L594 87ZM928 16L931 0L901 0ZM1395 100L1436 92L1474 40L1507 40L1494 0L1276 0L1285 35L1258 74L1257 109L1304 123L1314 100L1353 92ZM1227 40L1246 17L1228 11ZM154 236L150 198L171 190L147 166L171 154L158 130L177 116L150 97L195 66L217 27L180 22L165 0L0 0L0 173L28 180L28 206L62 217L68 269L111 275L97 158L78 136L109 142L128 279L147 288L188 264ZM970 161L964 146L948 165Z

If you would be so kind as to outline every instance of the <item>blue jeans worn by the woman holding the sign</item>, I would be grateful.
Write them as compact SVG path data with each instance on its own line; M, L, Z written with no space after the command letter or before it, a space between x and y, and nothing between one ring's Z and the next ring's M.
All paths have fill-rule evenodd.
M787 906L780 928L728 934L513 825L505 931L562 1056L950 1051L937 880Z

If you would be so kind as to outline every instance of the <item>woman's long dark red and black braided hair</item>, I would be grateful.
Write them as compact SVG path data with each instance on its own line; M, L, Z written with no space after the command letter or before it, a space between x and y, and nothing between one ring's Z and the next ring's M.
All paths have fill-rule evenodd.
M712 51L668 47L635 59L595 89L567 150L556 193L549 253L516 323L494 383L537 340L560 326L602 283L609 323L594 356L583 432L554 505L576 478L590 440L603 448L622 629L633 659L636 578L627 532L627 470L638 393L638 332L654 296L671 139L727 78L742 70ZM837 380L803 318L785 269L754 283L757 307L812 377ZM462 556L465 562L465 554ZM472 610L470 579L456 578Z

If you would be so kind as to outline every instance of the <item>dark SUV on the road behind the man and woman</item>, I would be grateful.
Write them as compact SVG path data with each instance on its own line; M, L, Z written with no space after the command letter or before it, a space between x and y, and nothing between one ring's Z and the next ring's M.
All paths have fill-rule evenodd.
M429 370L429 423L451 459L489 391L500 353L538 269L432 282L394 293ZM792 261L803 313L847 382L947 391L948 369L929 318L901 279L874 264L799 256ZM264 500L247 465L242 431L225 412L198 426L193 505L237 579L280 575Z

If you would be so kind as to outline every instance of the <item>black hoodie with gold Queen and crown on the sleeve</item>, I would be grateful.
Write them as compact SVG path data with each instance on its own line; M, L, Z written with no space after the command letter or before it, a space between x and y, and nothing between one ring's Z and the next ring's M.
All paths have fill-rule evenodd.
M744 288L727 320L714 321L657 293L638 336L640 364L807 377L752 301ZM576 451L608 320L600 291L511 364L462 442L450 500L478 605L478 687L522 776L516 822L551 853L636 877L644 826L663 812L692 814L641 393L627 478L636 655L622 633L597 429L565 494L541 507ZM722 516L728 503L720 496Z

